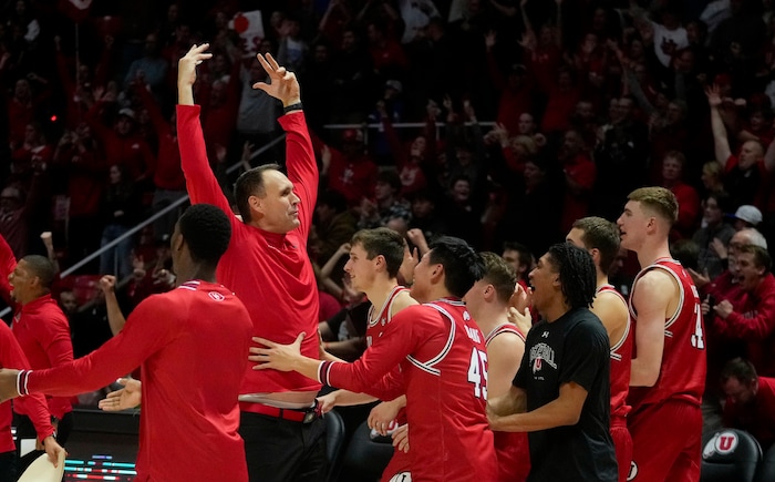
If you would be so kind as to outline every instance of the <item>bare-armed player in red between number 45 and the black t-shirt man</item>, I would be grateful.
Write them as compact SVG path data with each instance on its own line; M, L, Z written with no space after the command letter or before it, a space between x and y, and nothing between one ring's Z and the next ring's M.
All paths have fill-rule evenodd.
M517 271L495 253L482 253L485 274L463 300L485 334L487 397L508 392L525 353L525 335L508 320L509 299L517 286ZM527 433L493 432L498 457L498 482L524 482L530 472Z

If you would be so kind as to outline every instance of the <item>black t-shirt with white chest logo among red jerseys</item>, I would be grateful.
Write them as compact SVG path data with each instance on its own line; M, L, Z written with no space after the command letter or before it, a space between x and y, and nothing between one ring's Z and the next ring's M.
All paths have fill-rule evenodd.
M606 328L586 308L571 309L530 329L514 386L527 392L527 410L556 400L560 386L587 390L578 423L528 433L528 481L618 480L610 427L610 358Z

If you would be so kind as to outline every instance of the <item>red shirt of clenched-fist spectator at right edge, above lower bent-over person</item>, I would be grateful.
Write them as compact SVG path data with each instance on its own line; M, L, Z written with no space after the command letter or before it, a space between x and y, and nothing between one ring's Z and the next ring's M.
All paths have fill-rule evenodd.
M726 318L716 316L713 329L726 338L745 341L746 357L764 377L775 376L775 277L767 273L751 293L741 293Z

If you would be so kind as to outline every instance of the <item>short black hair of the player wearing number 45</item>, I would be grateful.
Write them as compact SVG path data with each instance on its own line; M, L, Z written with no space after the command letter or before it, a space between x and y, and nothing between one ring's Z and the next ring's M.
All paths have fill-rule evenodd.
M432 242L430 248L428 261L444 266L444 287L453 296L463 298L484 276L482 258L463 239L442 236Z

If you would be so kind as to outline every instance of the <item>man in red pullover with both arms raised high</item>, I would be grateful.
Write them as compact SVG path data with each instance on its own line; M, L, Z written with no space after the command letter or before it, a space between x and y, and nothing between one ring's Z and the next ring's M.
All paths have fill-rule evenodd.
M282 102L288 176L277 164L242 173L235 186L241 221L231 213L207 161L194 105L196 65L211 57L194 45L178 64L177 132L180 162L193 203L218 206L231 222L231 242L218 281L234 289L250 314L254 336L291 342L318 330L319 299L307 242L318 196L318 167L301 112L299 82L275 59L258 54L271 83L255 89ZM302 352L318 358L310 337ZM251 481L320 481L326 476L326 423L314 409L320 382L298 373L244 371L240 435Z

